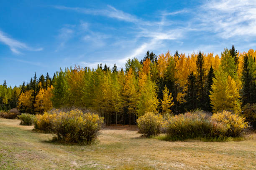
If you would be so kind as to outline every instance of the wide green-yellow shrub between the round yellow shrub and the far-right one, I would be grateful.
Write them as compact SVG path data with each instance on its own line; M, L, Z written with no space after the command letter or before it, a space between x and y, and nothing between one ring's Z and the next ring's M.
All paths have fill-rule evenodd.
M170 117L167 136L171 140L205 138L211 131L210 115L202 111L187 112Z

